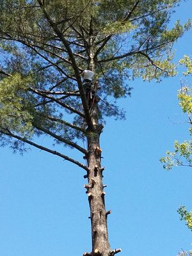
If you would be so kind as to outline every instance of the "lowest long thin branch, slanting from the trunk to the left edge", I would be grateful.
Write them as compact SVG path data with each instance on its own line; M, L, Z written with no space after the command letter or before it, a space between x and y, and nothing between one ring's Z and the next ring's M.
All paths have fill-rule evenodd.
M51 150L50 148L47 148L47 147L43 147L43 146L41 146L41 145L38 145L38 144L36 144L36 143L34 143L34 142L32 142L32 141L27 140L26 138L23 138L23 137L20 137L20 136L18 136L18 135L16 135L16 134L13 134L13 133L10 132L10 131L1 131L1 133L5 134L6 136L10 136L10 137L15 138L15 139L17 139L17 140L23 141L23 142L25 142L25 143L27 143L27 144L33 146L33 147L39 148L40 150L44 150L44 151L49 152L49 153L51 153L51 154L53 154L53 155L60 156L61 158L65 159L65 160L67 160L67 161L70 161L71 163L74 163L74 164L76 164L77 166L83 168L83 169L86 170L87 172L89 171L88 167L85 166L84 164L82 164L82 163L80 163L79 161L77 161L77 160L75 160L75 159L72 159L72 158L70 158L70 157L68 157L68 156L63 155L63 154L61 154L60 152L57 152L56 150Z

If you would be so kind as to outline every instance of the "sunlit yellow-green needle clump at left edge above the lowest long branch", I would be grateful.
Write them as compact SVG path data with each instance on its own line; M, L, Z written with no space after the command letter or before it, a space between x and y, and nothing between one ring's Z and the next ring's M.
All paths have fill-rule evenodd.
M31 83L31 77L21 77L13 74L0 83L0 125L1 129L19 132L24 136L31 135L33 131L32 119L26 108L24 93Z

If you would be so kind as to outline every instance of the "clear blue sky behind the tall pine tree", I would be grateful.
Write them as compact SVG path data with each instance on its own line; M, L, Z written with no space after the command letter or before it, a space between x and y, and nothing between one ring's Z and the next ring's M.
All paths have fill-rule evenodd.
M173 21L188 17L190 0L181 4ZM191 54L191 45L189 31L174 46L175 61ZM176 256L182 248L192 248L192 232L177 214L180 204L192 209L192 170L166 172L159 163L176 138L189 138L186 118L177 106L180 77L158 84L130 81L132 97L120 101L127 120L107 120L101 136L106 207L112 210L109 240L111 248L122 248L122 256ZM35 148L24 156L0 150L0 255L90 252L83 170ZM76 156L73 150L69 154Z

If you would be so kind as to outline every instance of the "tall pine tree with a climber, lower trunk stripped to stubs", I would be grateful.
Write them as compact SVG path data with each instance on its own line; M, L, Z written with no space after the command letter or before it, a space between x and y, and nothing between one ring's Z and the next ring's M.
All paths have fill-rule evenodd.
M0 0L1 145L20 152L32 145L86 172L92 253L84 256L121 251L109 246L100 133L105 116L124 118L116 100L130 95L127 79L159 81L175 74L172 46L191 26L177 21L168 27L179 3ZM93 97L84 92L85 69L95 73ZM45 135L54 148L35 142ZM81 152L86 164L63 154L68 150L61 146Z

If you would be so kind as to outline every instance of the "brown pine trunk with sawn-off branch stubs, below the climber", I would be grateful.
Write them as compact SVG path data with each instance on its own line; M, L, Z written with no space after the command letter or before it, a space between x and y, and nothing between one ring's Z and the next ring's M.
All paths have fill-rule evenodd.
M102 170L100 165L101 150L99 144L100 130L98 125L99 109L97 103L92 106L94 132L88 135L88 201L90 204L90 218L92 222L92 255L108 256L110 246L108 241L107 213L104 202L105 192L102 184Z

